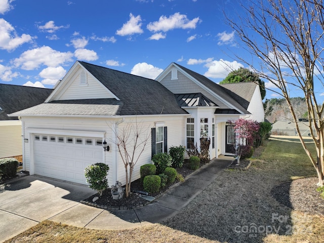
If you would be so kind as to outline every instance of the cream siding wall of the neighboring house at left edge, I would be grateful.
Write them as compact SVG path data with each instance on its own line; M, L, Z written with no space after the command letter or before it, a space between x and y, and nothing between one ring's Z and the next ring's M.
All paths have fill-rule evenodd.
M0 158L22 154L21 121L0 121Z

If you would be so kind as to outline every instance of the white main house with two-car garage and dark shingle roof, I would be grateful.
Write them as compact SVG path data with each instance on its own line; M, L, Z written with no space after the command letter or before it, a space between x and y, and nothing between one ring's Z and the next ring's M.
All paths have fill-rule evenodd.
M24 123L23 169L31 175L86 184L84 169L105 163L109 185L126 182L115 134L131 123L140 122L151 132L134 168L135 180L155 153L199 145L204 137L211 139L211 158L218 157L230 152L229 119L264 120L254 83L220 86L176 63L153 80L83 61L73 64L43 104L11 116Z

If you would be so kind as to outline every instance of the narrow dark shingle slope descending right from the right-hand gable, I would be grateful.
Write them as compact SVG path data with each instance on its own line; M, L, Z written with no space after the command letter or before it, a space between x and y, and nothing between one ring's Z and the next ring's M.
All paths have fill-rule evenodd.
M244 107L243 106L244 104L240 104L239 102L236 101L236 99L233 98L233 96L237 96L235 93L232 92L232 94L229 95L227 89L225 89L224 87L216 84L215 82L213 82L209 78L205 77L204 75L196 73L196 72L194 72L194 71L192 71L192 70L190 70L188 68L185 68L185 67L183 67L183 66L181 66L181 65L179 65L177 63L175 63L175 64L178 67L180 67L181 69L183 69L185 72L187 72L189 75L194 77L196 80L198 80L198 82L205 85L207 88L212 90L214 93L216 93L217 95L222 97L224 100L226 100L227 102L232 104L234 107L236 107L237 109L242 111L244 114L250 114L250 112L247 111L248 107ZM238 99L238 97L237 97L237 99Z

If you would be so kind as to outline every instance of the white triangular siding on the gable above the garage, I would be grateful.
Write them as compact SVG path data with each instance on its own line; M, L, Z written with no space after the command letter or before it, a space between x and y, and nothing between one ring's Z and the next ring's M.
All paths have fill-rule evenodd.
M87 75L87 85L80 85L80 73L74 75L71 84L57 100L114 98L93 76Z

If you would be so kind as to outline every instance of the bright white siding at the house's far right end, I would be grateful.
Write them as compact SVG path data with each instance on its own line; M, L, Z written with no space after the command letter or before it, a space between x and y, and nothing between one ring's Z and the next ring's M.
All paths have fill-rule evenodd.
M247 119L256 120L259 123L264 121L264 109L263 103L261 100L261 94L259 86L256 87L250 105L248 107L248 111L252 114L251 116L247 117Z

